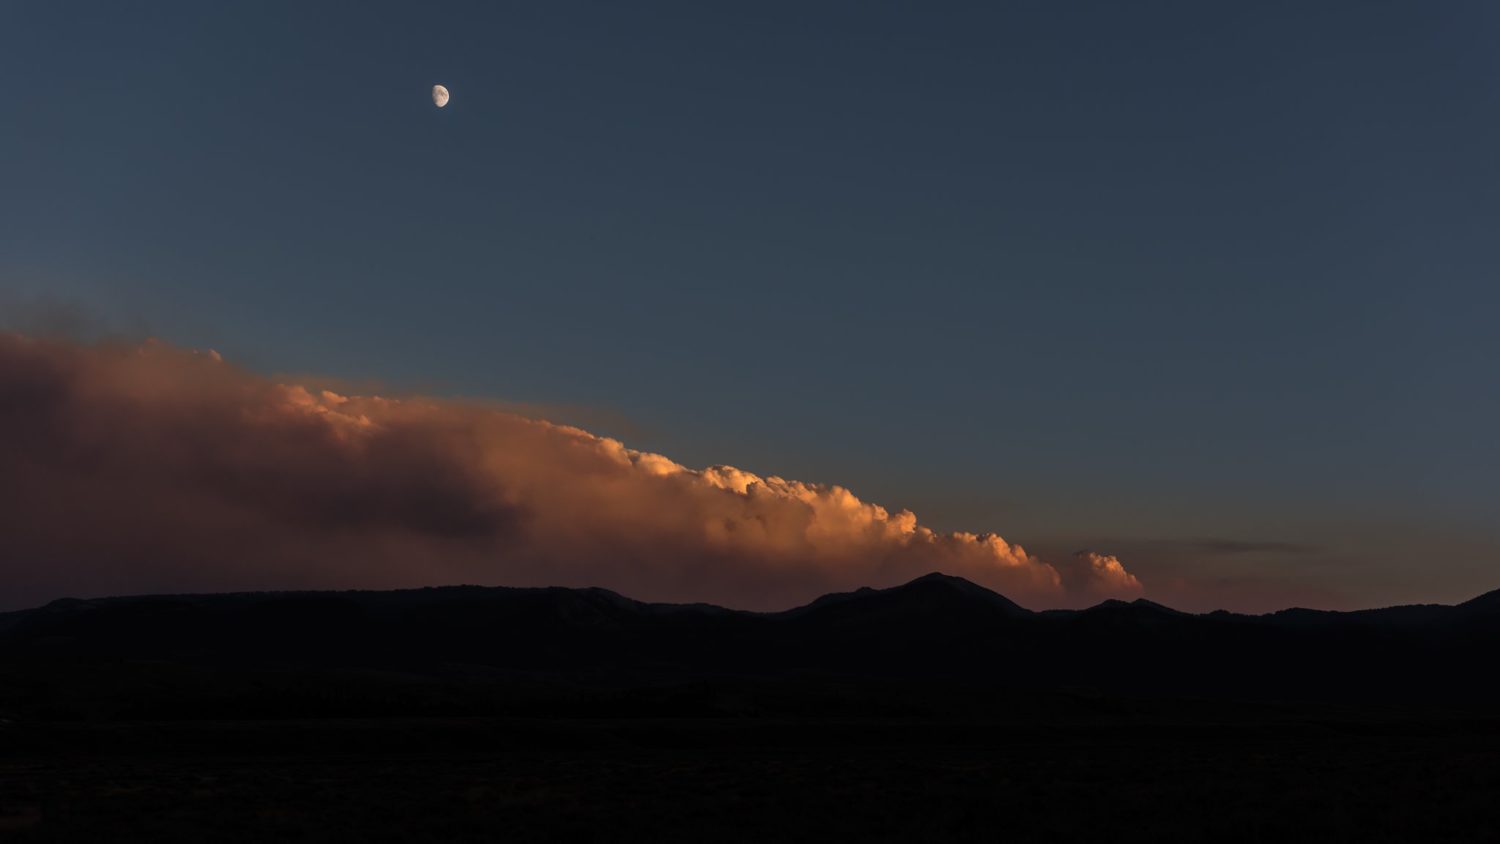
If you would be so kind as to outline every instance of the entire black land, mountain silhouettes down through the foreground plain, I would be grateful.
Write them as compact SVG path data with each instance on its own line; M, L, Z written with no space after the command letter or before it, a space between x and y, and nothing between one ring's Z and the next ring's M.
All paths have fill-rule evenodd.
M1029 613L940 576L58 601L0 616L0 838L1496 841L1497 646L1494 594Z

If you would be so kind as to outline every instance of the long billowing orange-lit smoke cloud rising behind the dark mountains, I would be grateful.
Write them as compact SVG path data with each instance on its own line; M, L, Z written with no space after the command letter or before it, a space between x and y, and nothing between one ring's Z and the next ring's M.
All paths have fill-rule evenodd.
M344 396L164 343L0 336L0 601L435 583L782 609L939 570L1030 606L1131 597L840 486L688 469L440 399Z

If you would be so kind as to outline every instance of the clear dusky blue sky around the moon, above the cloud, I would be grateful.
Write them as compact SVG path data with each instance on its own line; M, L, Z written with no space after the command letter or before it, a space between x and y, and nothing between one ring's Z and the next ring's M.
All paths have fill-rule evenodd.
M310 6L0 7L0 307L1164 598L1500 586L1494 3Z

